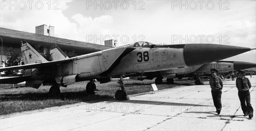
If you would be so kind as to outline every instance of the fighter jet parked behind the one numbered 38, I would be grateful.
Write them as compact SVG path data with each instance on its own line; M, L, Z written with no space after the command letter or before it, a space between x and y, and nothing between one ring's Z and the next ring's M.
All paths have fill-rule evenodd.
M184 68L178 68L178 69L171 69L166 71L154 71L154 72L148 72L144 73L142 76L141 74L137 74L137 76L132 76L130 79L133 80L144 80L149 79L152 80L155 79L156 84L162 84L163 78L167 78L167 83L174 83L173 78L179 78L182 79L184 77L195 77L195 84L200 85L200 76L211 76L211 69L215 68L218 70L218 76L226 76L227 74L230 74L231 71L237 71L247 68L253 68L256 67L256 63L248 63L248 62L241 62L241 61L217 61L212 63L207 63L203 65L195 65L195 66L189 66Z

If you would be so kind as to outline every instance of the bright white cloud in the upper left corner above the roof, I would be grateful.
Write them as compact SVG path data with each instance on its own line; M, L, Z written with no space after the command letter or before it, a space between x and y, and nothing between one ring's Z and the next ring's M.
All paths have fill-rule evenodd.
M76 34L76 23L71 23L62 14L62 11L68 9L67 4L70 1L32 2L31 5L26 2L25 9L23 9L25 6L21 6L19 3L17 3L17 9L14 6L3 7L0 13L0 26L35 33L35 26L46 24L47 26L55 26L55 34L60 37L72 38L70 34Z

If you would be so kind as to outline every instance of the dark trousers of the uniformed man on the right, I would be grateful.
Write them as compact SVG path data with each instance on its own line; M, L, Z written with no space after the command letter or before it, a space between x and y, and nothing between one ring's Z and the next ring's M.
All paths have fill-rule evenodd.
M248 113L249 115L253 115L253 107L250 104L250 91L238 91L238 96L244 114Z

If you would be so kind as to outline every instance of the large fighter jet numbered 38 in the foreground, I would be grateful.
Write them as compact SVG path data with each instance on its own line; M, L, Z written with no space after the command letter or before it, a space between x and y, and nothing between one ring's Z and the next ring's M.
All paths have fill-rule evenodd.
M88 93L96 91L95 80L107 83L111 78L184 68L210 63L235 56L251 48L215 44L154 45L137 42L127 46L111 48L84 54L64 60L47 61L25 40L21 42L21 52L25 65L0 68L0 71L26 69L22 77L0 79L1 84L26 81L26 86L39 88L42 83L51 84L50 96L60 94L60 86L67 87L79 81L90 82L86 85ZM207 54L207 56L205 55ZM116 99L122 100L125 88L116 91Z

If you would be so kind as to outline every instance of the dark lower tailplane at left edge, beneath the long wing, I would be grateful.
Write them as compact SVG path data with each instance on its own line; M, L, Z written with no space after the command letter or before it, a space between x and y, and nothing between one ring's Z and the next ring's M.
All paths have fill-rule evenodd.
M4 79L0 79L0 83L1 84L17 84L17 83L22 83L23 81L29 80L31 78L33 78L33 76L4 78Z

